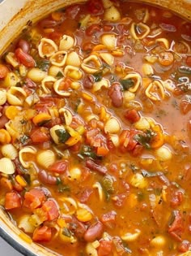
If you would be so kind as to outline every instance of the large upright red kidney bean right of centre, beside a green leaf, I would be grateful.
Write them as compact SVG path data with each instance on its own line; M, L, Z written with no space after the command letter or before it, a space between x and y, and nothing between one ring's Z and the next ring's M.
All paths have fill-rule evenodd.
M120 107L123 104L121 85L118 83L112 84L112 86L108 89L108 96L111 98L113 106Z

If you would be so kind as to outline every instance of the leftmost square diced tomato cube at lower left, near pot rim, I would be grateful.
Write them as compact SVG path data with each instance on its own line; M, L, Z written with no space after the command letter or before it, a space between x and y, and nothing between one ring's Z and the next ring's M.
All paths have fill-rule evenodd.
M5 201L6 210L19 208L20 206L21 206L21 197L19 196L19 193L15 191L6 193L6 201Z

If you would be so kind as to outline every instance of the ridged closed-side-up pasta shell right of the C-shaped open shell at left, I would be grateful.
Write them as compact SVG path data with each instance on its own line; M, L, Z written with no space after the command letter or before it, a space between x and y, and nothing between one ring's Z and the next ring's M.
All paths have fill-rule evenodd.
M56 157L52 150L45 150L37 154L36 161L41 167L48 168L55 163Z

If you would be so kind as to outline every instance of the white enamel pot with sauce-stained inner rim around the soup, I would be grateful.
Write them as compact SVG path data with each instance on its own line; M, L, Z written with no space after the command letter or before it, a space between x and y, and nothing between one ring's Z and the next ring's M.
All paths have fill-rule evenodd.
M28 26L28 21L35 22L58 8L86 1L19 0L13 2L12 0L0 0L0 54L6 50L6 47L21 33L23 28ZM136 2L146 2L165 7L185 19L191 20L191 0L136 0ZM24 255L57 255L40 245L36 245L28 236L20 232L2 208L0 208L0 236Z

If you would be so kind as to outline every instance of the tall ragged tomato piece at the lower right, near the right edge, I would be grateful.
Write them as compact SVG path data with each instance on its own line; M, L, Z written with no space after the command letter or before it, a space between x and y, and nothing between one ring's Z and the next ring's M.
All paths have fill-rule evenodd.
M184 232L183 217L179 210L173 210L173 221L168 226L168 233L176 240L181 241L181 235Z

